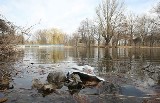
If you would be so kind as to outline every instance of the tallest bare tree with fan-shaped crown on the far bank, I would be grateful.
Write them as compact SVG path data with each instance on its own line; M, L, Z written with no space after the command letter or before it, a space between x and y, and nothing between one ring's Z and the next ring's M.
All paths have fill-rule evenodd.
M124 3L120 0L103 0L96 9L98 24L106 46L109 45L115 29L122 22Z

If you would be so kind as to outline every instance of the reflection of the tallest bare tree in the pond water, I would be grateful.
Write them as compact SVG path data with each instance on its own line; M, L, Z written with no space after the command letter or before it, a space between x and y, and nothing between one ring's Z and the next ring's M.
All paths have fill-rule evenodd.
M126 73L130 69L130 61L127 59L127 49L107 48L103 53L103 57L99 58L98 65L100 72L120 72Z

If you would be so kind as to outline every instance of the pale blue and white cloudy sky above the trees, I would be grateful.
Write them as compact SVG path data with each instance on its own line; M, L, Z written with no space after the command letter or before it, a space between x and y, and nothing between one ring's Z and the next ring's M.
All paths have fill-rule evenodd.
M101 0L0 0L0 14L18 26L36 29L59 28L74 32L85 18L95 18ZM127 11L148 12L160 0L125 0Z

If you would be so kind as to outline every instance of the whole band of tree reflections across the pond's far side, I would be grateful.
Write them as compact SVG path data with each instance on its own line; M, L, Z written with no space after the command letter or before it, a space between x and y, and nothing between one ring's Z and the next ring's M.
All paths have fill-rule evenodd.
M72 62L91 65L98 73L123 73L142 85L159 83L160 49L141 48L25 48L24 60L54 64Z

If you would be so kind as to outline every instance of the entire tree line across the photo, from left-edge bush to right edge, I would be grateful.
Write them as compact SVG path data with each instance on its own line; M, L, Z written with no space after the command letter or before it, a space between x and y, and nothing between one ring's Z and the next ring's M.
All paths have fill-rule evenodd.
M95 9L96 18L82 20L72 35L57 28L39 29L32 35L32 41L26 40L24 35L29 35L34 25L18 27L1 16L1 51L8 48L6 44L24 43L86 47L160 46L160 2L150 10L150 15L126 13L125 10L122 0L102 0Z

